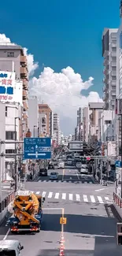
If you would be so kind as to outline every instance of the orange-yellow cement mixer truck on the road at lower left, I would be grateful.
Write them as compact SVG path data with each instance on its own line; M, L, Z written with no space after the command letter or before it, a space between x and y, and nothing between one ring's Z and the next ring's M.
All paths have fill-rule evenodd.
M45 198L31 191L18 191L13 201L13 216L8 221L11 232L39 232L44 201Z

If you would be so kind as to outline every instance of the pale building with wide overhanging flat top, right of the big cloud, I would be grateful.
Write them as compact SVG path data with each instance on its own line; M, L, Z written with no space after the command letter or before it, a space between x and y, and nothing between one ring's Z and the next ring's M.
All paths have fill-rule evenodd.
M91 110L90 125L89 125L89 142L95 143L98 141L98 113L102 111L104 102L91 102L88 107Z

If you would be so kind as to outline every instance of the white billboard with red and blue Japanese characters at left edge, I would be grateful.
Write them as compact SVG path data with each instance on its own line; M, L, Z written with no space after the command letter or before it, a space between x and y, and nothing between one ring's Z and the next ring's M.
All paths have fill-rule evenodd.
M15 72L0 71L0 102L22 105L22 82L15 80Z

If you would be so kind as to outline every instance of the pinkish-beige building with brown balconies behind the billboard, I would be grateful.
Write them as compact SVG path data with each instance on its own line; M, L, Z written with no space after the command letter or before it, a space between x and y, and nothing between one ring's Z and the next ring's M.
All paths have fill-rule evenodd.
M28 63L21 46L0 43L0 70L16 72L16 80L23 82L23 137L28 131Z

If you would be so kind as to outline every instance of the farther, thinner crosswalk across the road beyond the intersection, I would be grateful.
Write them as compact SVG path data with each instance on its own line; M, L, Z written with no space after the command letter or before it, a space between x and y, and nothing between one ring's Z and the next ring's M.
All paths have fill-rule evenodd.
M75 182L78 182L80 184L93 184L94 182L91 181L91 180L38 180L38 182L44 182L44 183L47 183L47 182L54 182L54 183L75 183Z

